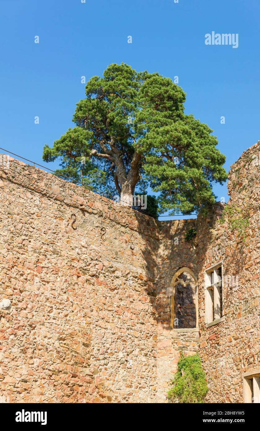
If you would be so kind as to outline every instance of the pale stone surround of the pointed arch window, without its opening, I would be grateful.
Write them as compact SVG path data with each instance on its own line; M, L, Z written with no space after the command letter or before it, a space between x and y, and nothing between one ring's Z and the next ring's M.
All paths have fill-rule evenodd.
M181 283L179 279L179 275L183 274L183 272L187 272L189 275L192 276L195 284L195 308L196 308L196 326L195 328L173 328L174 323L174 308L175 308L175 287L177 284ZM182 283L181 283L182 284ZM183 266L183 268L178 269L178 271L175 272L173 275L170 286L167 287L166 292L167 297L170 297L170 329L174 332L198 332L198 279L194 272L187 268L186 266Z

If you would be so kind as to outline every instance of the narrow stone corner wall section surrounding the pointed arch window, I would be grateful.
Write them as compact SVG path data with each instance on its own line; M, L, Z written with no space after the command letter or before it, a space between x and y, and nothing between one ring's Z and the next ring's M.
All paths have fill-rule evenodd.
M194 271L195 247L185 241L186 232L195 227L195 220L176 220L160 222L161 236L158 250L158 287L157 287L157 397L165 402L169 381L176 372L180 352L187 355L198 352L198 331L177 331L170 329L170 298L166 296L167 287L178 269L188 267Z

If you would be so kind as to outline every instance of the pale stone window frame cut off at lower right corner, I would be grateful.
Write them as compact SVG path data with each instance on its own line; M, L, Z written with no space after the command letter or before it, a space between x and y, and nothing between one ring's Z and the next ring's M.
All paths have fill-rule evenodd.
M242 373L243 402L245 404L260 403L260 369Z

